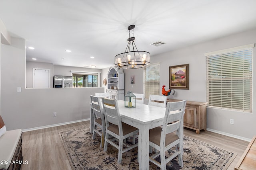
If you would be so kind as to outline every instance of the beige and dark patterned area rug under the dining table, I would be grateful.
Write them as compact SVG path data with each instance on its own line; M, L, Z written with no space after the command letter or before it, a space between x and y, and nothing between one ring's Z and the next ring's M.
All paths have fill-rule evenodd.
M74 170L137 170L137 148L122 154L122 164L117 164L118 150L111 145L107 152L100 148L100 136L92 139L88 127L59 132L70 164ZM168 163L168 170L226 170L236 154L184 136L184 166L178 158ZM159 159L160 162L160 159ZM160 169L149 162L150 170Z

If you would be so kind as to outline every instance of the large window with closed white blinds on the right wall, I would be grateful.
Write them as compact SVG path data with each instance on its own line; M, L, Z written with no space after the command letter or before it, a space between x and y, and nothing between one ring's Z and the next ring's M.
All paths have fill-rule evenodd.
M205 54L208 106L252 112L252 47Z

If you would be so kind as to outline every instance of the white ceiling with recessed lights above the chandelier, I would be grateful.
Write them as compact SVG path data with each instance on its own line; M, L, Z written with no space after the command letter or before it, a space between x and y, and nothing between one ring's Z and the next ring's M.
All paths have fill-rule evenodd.
M256 0L0 0L0 18L35 48L27 61L106 68L125 51L129 25L154 57L256 28Z

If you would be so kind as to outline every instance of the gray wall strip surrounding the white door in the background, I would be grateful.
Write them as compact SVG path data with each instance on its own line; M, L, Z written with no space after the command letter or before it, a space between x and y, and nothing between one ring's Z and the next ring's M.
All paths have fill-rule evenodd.
M50 87L53 87L53 64L26 61L26 88L33 88L33 68L50 69Z

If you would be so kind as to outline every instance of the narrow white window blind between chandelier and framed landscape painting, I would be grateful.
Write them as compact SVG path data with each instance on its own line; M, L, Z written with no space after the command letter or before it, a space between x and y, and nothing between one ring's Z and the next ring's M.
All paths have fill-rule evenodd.
M149 98L150 94L159 95L160 87L160 63L150 64L144 67L143 76L143 93L145 98Z

